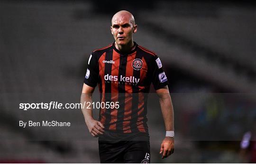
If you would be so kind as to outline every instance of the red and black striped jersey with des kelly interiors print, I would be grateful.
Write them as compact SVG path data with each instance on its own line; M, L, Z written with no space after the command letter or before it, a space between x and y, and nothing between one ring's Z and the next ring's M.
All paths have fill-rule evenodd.
M120 133L144 132L147 128L147 94L168 84L159 57L137 45L127 54L115 43L95 50L90 55L84 83L99 85L101 102L119 102L118 109L101 109L99 121L105 130Z

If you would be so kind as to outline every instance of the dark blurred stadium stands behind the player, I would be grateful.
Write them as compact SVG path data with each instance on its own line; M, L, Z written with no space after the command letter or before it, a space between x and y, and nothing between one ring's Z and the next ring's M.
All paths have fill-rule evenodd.
M97 138L80 110L18 107L79 102L88 57L114 41L110 20L122 9L135 17L134 40L160 56L174 103L175 153L162 160L165 128L157 97L150 97L151 162L253 162L255 2L1 0L0 163L100 162ZM18 127L19 120L46 119L72 127ZM243 149L248 133L250 145Z

